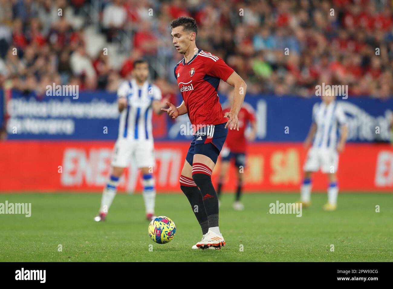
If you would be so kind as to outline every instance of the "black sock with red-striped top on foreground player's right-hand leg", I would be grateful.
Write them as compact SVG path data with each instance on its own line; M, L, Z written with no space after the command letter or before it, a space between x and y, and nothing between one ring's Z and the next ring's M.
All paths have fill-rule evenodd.
M221 234L219 230L219 202L217 193L211 182L211 169L202 163L194 163L192 169L193 180L200 188L202 200L208 216L209 230Z

